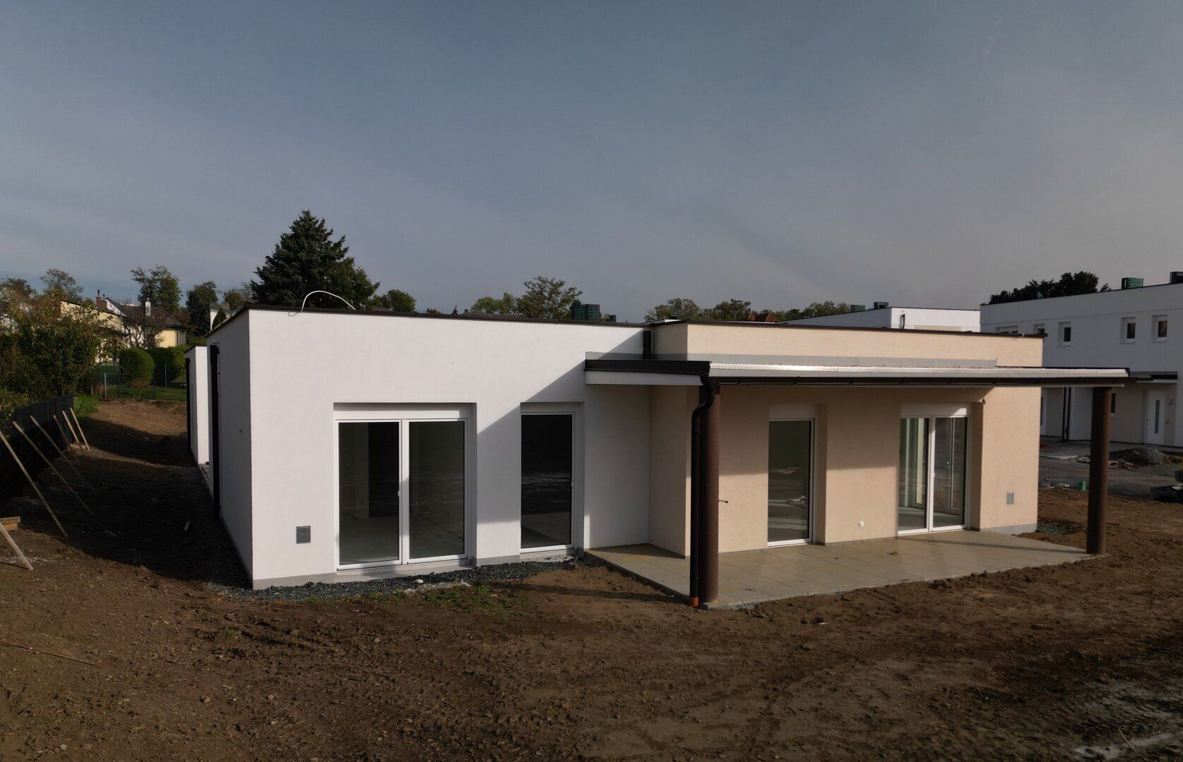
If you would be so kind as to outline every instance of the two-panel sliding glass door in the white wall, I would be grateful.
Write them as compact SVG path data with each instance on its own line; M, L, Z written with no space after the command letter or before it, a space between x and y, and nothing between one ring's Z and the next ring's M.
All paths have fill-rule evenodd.
M464 419L337 422L337 566L466 552Z

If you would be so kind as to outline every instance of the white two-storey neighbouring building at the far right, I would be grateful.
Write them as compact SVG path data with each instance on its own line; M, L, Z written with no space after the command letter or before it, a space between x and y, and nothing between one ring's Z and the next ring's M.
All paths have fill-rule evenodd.
M1043 336L1043 365L1125 367L1137 383L1113 393L1111 438L1183 447L1178 376L1183 369L1183 273L1171 282L1075 297L982 305L983 333ZM1092 418L1087 390L1045 389L1040 432L1086 439Z

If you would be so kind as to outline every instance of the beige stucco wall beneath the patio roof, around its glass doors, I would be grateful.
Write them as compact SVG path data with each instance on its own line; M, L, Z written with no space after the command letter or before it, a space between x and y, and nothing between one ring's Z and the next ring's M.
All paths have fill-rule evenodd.
M687 390L689 391L689 390ZM651 542L689 549L692 391L651 397ZM768 422L774 405L814 405L814 536L847 542L896 535L899 422L904 404L969 409L968 514L974 528L1034 525L1039 470L1037 389L827 389L723 386L720 392L719 551L768 542ZM666 400L668 404L654 404ZM677 439L677 457L662 438ZM686 465L679 471L677 462ZM1007 504L1007 493L1015 502ZM681 512L678 512L678 507ZM860 523L861 522L861 523Z

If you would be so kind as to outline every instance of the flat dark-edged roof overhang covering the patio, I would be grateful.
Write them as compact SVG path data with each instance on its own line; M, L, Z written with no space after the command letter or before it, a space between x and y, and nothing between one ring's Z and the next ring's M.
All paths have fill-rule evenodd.
M584 360L588 384L698 386L722 384L797 386L1120 386L1124 367L1016 367L998 365L820 365L723 363L713 360Z

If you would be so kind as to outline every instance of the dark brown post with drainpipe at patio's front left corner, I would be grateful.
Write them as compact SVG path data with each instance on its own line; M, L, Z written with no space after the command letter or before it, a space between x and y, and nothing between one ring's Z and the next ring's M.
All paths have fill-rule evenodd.
M690 605L719 597L719 384L703 376L690 416Z

